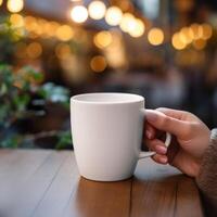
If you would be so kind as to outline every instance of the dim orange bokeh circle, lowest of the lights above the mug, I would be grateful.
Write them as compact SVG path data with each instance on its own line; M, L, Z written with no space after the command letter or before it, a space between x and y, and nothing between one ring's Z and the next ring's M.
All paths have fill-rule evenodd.
M106 60L102 55L95 55L90 61L90 67L95 73L103 72L107 66Z

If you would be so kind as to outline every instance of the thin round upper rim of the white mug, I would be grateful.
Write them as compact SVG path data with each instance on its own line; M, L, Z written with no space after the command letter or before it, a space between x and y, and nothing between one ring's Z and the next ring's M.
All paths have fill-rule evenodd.
M91 97L91 95L124 95L128 97L128 100L119 100L119 101L98 101L98 100L85 100L82 98ZM130 99L131 98L131 99ZM81 93L71 97L71 102L85 103L85 104L128 104L128 103L138 103L144 102L144 98L135 93L126 93L126 92L90 92L90 93Z

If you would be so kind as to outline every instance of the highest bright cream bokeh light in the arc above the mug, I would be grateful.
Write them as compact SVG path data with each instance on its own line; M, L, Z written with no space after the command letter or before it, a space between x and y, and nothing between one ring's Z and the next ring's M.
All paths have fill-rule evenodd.
M88 7L89 16L93 20L101 20L104 17L106 7L102 1L92 1Z

